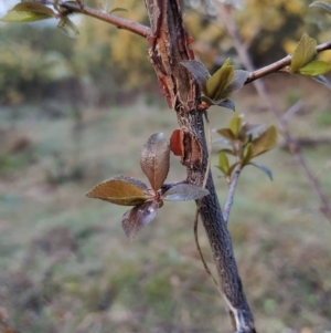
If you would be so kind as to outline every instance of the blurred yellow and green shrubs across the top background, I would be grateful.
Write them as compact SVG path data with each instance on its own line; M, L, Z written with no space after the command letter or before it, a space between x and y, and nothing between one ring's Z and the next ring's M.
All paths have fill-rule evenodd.
M329 39L328 15L318 9L308 11L309 3L242 1L234 18L256 66L291 52L303 31L319 42ZM184 19L197 58L211 70L228 56L239 63L233 42L216 21L212 1L186 0L185 4ZM118 15L149 24L140 1L117 0L114 7L128 9ZM0 25L0 104L41 98L75 104L131 103L143 90L158 91L146 40L86 17L78 21L81 35L76 40L50 23ZM323 56L330 58L327 53Z

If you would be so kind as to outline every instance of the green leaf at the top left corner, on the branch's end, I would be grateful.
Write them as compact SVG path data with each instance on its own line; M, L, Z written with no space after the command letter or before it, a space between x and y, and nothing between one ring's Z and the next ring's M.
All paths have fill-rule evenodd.
M56 17L56 13L49 7L38 2L21 2L14 6L0 19L2 22L23 23L45 20Z

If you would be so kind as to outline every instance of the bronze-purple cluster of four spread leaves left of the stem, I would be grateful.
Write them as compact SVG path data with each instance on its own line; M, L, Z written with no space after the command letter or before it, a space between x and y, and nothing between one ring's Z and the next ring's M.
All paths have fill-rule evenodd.
M206 189L191 184L164 186L170 168L170 146L163 133L151 135L142 146L140 166L151 187L139 179L119 175L96 185L86 195L115 205L134 206L121 219L129 239L157 217L163 200L195 200L209 195Z

